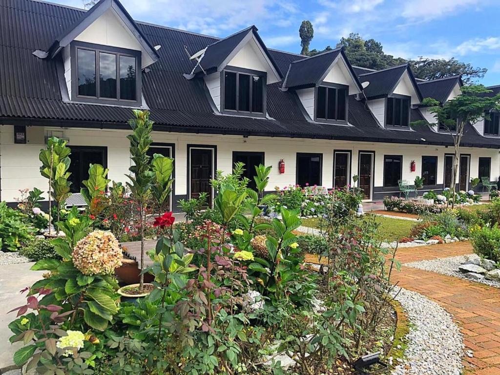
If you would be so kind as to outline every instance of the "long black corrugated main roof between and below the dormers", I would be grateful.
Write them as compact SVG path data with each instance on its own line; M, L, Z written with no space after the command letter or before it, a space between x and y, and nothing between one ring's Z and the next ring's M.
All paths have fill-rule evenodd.
M46 49L84 14L82 9L54 3L0 0L0 123L128 128L130 108L63 102L57 76L60 55L42 59L32 54ZM219 39L145 22L135 24L150 45L161 45L158 60L142 75L142 94L156 130L452 145L448 134L435 133L427 125L415 131L383 129L364 100L354 96L349 97L349 126L308 122L296 93L283 92L280 83L267 86L267 112L272 119L215 114L203 79L183 76L195 66L184 45L189 51L199 51ZM268 53L281 77L301 57L273 49ZM481 137L474 129L467 130L463 143L500 147L500 140Z

